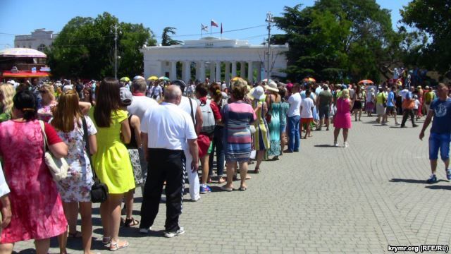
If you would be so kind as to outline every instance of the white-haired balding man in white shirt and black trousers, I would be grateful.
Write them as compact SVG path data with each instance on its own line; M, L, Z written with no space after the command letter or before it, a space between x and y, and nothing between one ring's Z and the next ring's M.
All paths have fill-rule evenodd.
M169 85L164 102L147 109L141 123L144 157L148 163L147 181L141 206L140 233L147 234L158 214L163 183L166 181L166 224L164 236L174 237L185 233L179 226L182 213L183 186L185 184L185 153L189 150L192 163L188 170L197 171L199 165L197 135L192 119L178 105L182 91L177 85ZM158 135L148 135L158 133Z

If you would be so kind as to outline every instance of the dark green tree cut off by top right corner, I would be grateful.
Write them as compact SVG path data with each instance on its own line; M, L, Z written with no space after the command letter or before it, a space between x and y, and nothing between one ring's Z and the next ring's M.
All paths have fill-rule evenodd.
M451 1L413 0L401 10L402 22L431 38L415 56L418 62L440 73L451 71ZM415 57L414 56L414 57Z

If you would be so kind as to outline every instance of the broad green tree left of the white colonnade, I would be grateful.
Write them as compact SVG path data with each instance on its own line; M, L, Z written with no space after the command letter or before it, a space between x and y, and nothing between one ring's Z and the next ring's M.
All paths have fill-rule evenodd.
M114 33L118 24L118 77L141 75L143 44L155 45L149 28L142 24L120 23L109 13L97 18L75 17L61 30L47 50L47 61L54 77L101 79L114 75Z

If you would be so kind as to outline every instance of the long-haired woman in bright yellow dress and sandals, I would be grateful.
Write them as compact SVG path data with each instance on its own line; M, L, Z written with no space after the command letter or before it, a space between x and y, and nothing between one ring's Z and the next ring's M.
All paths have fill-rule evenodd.
M119 241L121 202L124 193L135 188L133 171L124 143L131 138L127 111L121 110L118 80L104 78L97 88L97 104L91 111L97 127L97 154L92 157L99 180L109 189L106 202L100 205L101 224L104 227L102 243L110 250L128 246Z

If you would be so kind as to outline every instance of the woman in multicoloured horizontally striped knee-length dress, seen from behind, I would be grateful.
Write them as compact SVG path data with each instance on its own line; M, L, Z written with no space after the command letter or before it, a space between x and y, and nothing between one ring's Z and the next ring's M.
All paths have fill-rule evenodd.
M237 162L240 164L241 184L240 191L245 191L247 162L251 156L251 131L250 124L254 122L254 109L242 101L246 94L244 80L235 82L232 90L233 103L225 105L221 109L224 123L224 153L227 161L227 183L222 186L223 191L233 191L233 175Z

